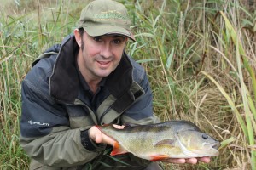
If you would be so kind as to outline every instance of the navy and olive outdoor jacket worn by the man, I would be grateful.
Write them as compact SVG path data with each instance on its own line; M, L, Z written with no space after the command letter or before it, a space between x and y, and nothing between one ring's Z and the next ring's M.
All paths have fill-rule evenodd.
M90 140L91 126L158 122L141 65L124 53L93 96L78 70L78 50L74 37L66 37L41 56L22 82L20 145L35 167L76 169L102 155L106 145Z

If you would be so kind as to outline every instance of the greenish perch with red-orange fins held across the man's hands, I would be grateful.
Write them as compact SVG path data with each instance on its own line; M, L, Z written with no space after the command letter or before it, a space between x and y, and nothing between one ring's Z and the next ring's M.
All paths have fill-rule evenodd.
M131 152L150 161L167 158L218 156L219 142L192 122L171 121L116 129L96 126L116 142L111 155Z

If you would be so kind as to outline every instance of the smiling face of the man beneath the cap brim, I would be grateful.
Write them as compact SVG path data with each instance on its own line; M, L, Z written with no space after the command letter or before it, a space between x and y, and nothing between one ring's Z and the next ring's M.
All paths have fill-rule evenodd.
M126 37L90 37L84 32L79 52L79 70L86 81L101 79L115 70L125 49Z

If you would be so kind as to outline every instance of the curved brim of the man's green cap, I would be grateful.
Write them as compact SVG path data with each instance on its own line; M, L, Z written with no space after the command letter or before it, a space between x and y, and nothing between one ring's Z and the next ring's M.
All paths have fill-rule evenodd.
M102 26L84 26L83 28L91 37L117 34L117 35L129 37L134 42L136 41L131 31L126 30L125 28L122 28L119 26L102 25Z

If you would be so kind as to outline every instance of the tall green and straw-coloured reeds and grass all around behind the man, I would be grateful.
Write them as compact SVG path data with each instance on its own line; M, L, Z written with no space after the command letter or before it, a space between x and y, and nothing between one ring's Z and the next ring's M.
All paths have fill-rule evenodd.
M19 145L20 82L32 61L73 32L89 0L0 0L0 169L27 169ZM148 72L162 121L195 122L219 141L209 164L166 169L256 168L256 1L119 0Z

